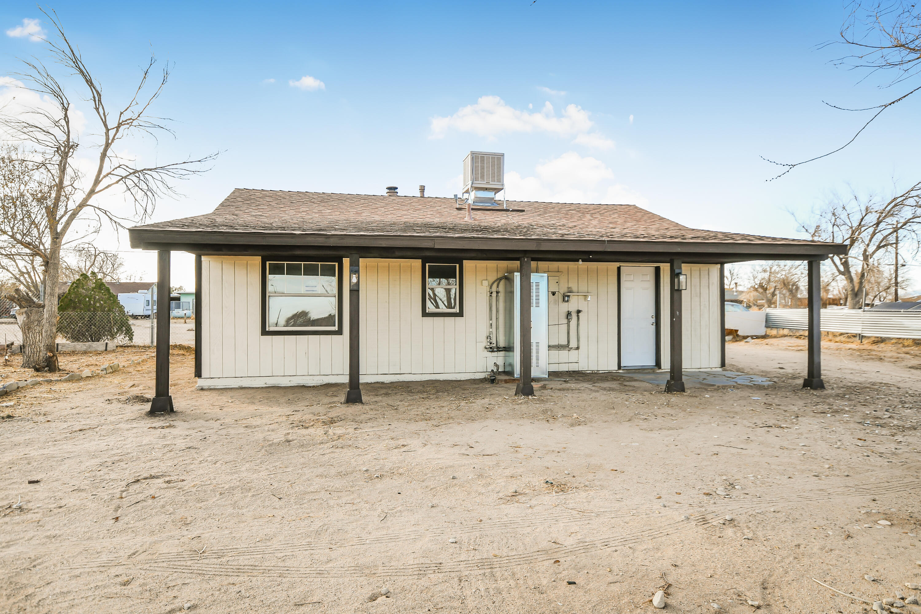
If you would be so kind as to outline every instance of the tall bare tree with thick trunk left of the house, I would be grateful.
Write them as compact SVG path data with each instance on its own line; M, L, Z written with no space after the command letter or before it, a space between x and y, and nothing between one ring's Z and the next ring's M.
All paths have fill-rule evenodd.
M83 57L64 35L60 21L53 12L45 12L52 24L55 40L45 41L52 62L39 59L24 60L25 70L17 75L25 87L36 92L42 104L36 104L24 113L0 118L0 128L9 138L28 145L23 150L21 162L32 165L35 172L52 188L41 208L30 212L42 218L47 237L47 259L44 262L45 284L57 288L61 277L61 255L66 237L78 220L95 216L101 222L123 227L129 218L115 214L99 197L105 194L122 194L134 203L131 219L143 221L152 214L157 199L175 194L173 182L188 179L202 172L202 163L215 155L198 159L187 158L181 162L146 167L117 152L126 139L137 136L170 133L163 118L151 114L151 106L166 87L169 68L155 75L154 57L141 71L137 87L121 106L112 111L104 102L102 87L92 76ZM60 78L54 70L59 70ZM90 107L87 115L94 126L94 139L81 142L76 131L75 106L61 79L76 77L81 98ZM156 77L152 85L148 81ZM92 168L86 175L78 170L77 152L87 150L92 158ZM36 203L35 206L39 206ZM56 371L57 354L54 342L57 336L57 301L46 300L42 320L41 340L48 353L47 368Z

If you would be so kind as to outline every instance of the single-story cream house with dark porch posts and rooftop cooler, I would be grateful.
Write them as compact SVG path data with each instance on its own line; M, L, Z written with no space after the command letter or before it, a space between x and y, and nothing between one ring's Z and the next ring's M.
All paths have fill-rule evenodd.
M505 202L501 154L465 160L465 198L234 190L210 214L135 226L133 248L195 254L202 388L725 365L723 266L819 262L839 244L682 226L630 204ZM814 299L814 300L813 300ZM814 330L813 330L814 329ZM823 388L818 326L804 386ZM169 329L151 411L171 411Z

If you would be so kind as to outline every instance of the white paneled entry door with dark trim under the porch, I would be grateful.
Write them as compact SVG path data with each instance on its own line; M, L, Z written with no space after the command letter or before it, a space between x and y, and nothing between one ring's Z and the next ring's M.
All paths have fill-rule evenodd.
M656 267L621 267L621 366L656 365Z

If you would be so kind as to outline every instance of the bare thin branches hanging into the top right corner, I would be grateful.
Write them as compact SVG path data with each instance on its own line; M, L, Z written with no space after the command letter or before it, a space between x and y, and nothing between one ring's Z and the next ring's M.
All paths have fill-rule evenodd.
M891 96L889 101L866 109L845 109L826 102L825 104L838 110L875 112L844 145L821 156L794 164L775 162L762 156L765 161L786 168L772 180L783 177L800 165L831 156L851 145L885 110L921 89L916 80L921 72L921 6L916 2L854 0L848 5L839 36L840 41L830 41L827 44L843 44L853 50L853 53L834 60L834 64L852 70L869 71L869 75L864 78L877 73L891 76L880 87L886 89L901 85L903 89L897 95Z

